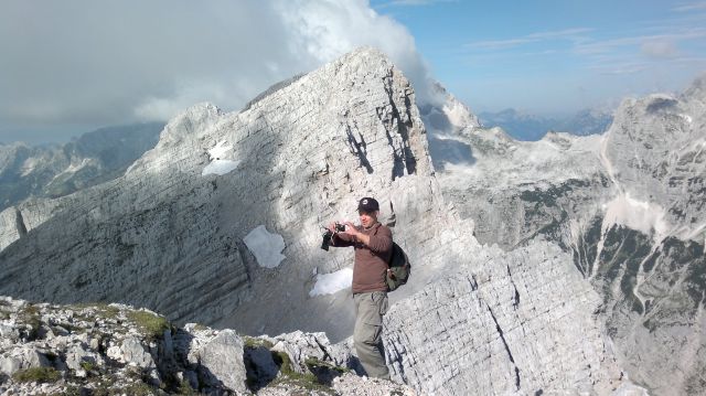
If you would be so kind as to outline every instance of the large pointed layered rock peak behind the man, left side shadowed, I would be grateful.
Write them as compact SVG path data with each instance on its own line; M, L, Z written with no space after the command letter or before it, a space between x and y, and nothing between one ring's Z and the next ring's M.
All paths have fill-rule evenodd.
M375 195L410 254L441 248L434 225L451 215L426 145L409 83L375 51L292 81L240 113L192 107L125 176L44 211L51 218L6 248L2 292L122 301L178 321L341 339L352 327L346 296L309 297L317 272L351 264L347 250L319 248L321 225L354 220L357 199ZM237 168L204 174L224 162ZM287 258L276 270L243 243L259 225L284 237ZM261 301L276 307L264 310Z

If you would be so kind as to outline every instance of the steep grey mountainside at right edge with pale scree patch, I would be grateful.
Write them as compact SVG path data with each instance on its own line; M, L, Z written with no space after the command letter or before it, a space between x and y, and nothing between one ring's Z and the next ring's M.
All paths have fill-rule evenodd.
M623 103L603 149L618 192L582 245L625 368L655 394L706 389L704 83Z

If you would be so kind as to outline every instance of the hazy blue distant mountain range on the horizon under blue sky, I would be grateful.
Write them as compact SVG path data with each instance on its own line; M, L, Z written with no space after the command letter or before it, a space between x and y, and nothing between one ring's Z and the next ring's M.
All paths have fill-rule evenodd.
M541 117L513 108L478 115L485 128L501 127L517 140L539 140L548 131L588 136L605 132L613 120L606 110L584 109L565 118Z

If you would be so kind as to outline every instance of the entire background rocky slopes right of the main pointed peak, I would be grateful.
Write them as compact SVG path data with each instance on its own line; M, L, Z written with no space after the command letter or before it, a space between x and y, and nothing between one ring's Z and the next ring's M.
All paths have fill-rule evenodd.
M706 387L703 87L625 100L603 137L523 143L471 125L454 138L473 164L439 174L480 242L573 255L621 364L655 394Z

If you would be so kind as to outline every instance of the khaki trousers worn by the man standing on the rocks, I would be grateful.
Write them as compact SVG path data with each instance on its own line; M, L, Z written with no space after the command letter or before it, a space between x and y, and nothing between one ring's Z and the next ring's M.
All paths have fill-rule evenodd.
M353 342L357 358L371 377L389 379L383 355L383 315L387 312L387 292L372 291L353 295L355 329Z

